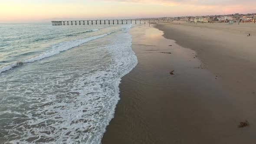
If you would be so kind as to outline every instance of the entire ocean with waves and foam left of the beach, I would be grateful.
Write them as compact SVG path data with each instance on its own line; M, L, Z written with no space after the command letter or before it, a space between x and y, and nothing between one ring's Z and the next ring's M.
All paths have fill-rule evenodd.
M100 144L138 63L130 28L0 24L0 143Z

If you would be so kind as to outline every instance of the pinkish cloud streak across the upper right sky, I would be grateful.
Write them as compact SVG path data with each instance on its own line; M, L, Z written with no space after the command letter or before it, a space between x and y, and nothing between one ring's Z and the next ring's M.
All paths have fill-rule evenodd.
M229 14L229 13L256 13L256 0L98 0L114 3L158 5L171 7L170 12L183 14ZM159 9L162 11L163 9Z

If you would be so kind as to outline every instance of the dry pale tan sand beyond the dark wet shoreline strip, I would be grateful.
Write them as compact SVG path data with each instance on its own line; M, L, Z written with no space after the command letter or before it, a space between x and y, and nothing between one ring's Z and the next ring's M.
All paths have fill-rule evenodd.
M206 68L219 76L243 118L256 122L256 24L159 24L164 37L193 49ZM248 37L248 33L251 34Z

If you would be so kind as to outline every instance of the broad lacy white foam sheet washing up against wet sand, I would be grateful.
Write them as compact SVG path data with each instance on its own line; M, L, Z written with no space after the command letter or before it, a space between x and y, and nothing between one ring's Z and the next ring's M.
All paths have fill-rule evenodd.
M48 63L41 65L45 69L0 85L0 94L8 95L0 101L6 108L0 116L8 115L0 121L6 120L10 127L2 129L4 137L14 144L100 144L114 117L121 77L138 63L129 28L105 37L108 44L77 55L70 67L63 63L65 68L56 65L57 70L51 71ZM86 59L89 56L92 61Z

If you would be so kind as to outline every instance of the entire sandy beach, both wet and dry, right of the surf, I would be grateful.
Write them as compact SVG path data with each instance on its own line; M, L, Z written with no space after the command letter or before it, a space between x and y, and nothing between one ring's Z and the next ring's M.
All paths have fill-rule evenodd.
M122 78L102 144L254 144L255 26L133 27L138 65Z

